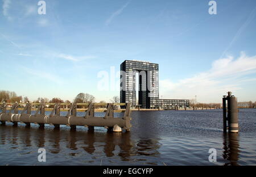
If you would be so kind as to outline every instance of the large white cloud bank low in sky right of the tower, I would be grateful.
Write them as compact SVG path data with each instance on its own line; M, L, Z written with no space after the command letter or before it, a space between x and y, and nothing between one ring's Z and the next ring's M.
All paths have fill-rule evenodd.
M236 60L232 56L221 58L213 62L210 70L193 77L178 82L159 81L159 95L170 99L191 99L197 95L199 102L220 102L220 96L227 91L238 91L245 82L255 82L255 79L245 78L252 73L256 73L256 56L249 57L241 52Z

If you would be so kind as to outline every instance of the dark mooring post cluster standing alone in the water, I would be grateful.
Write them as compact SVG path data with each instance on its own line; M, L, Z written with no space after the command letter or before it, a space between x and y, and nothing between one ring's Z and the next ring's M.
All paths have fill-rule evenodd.
M228 129L229 133L238 133L238 109L237 98L232 95L232 92L228 92L228 95L224 95L222 98L223 109L223 132L226 133ZM228 112L228 115L227 115Z

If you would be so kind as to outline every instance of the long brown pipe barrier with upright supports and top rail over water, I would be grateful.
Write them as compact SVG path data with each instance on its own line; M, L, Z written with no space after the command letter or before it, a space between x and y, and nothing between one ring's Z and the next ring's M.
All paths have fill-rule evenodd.
M60 125L67 125L71 127L71 129L76 129L76 126L80 125L87 127L89 130L94 130L94 127L105 127L109 130L113 129L114 126L118 126L126 131L130 131L131 128L130 103L71 103L66 116L60 116L60 103L54 104L50 115L45 115L46 103L26 103L26 106L22 112L18 113L18 107L20 104L22 103L0 104L0 110L2 110L0 113L0 122L5 124L7 121L13 123L14 125L18 125L18 122L20 122L26 124L26 127L30 127L30 123L35 123L39 124L40 128L43 128L44 124L54 125L55 128L59 128ZM113 106L117 104L126 107L123 117L114 117ZM6 109L7 105L12 105L10 110ZM38 106L34 115L31 114L32 105ZM77 105L88 106L84 116L76 116ZM94 108L96 106L104 105L107 106L105 116L95 117Z

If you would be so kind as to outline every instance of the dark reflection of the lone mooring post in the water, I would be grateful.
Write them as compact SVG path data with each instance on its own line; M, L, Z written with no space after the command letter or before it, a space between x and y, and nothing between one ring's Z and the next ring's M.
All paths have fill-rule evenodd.
M238 165L237 161L239 159L239 142L238 133L224 133L223 134L223 158L228 160L228 163L224 165Z

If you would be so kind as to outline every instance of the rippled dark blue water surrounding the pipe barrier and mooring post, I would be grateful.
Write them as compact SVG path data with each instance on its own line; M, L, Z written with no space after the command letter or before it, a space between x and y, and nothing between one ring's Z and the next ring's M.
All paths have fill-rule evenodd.
M222 133L221 109L133 111L131 116L130 133L1 125L0 165L256 165L256 109L240 109L239 134ZM40 147L46 149L46 162L38 162ZM210 148L217 150L217 162L209 162Z

